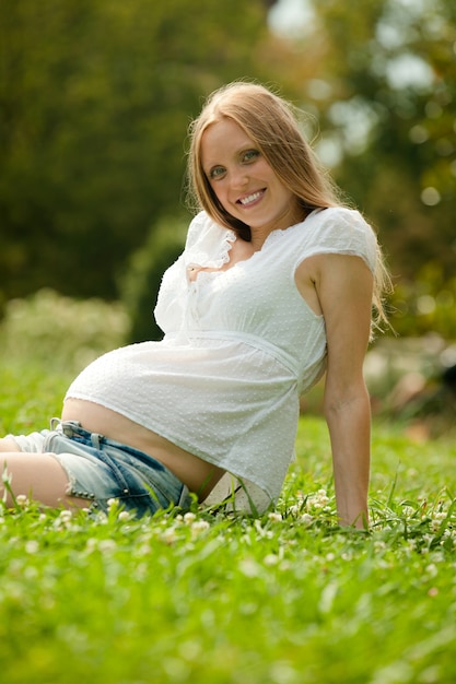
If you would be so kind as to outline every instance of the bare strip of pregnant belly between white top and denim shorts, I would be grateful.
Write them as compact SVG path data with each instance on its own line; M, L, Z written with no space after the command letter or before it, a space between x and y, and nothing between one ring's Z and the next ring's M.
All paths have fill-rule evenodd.
M61 420L78 421L91 433L98 433L148 453L166 465L200 500L208 496L224 473L217 465L180 449L156 433L91 401L67 399Z

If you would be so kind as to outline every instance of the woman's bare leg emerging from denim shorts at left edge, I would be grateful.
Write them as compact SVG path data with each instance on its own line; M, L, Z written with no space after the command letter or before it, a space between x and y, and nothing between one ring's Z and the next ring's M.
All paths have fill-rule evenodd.
M3 477L8 477L14 496L23 494L51 508L85 508L90 505L89 499L68 496L68 475L51 453L2 452L0 471L1 499L5 488ZM12 504L7 491L7 506Z

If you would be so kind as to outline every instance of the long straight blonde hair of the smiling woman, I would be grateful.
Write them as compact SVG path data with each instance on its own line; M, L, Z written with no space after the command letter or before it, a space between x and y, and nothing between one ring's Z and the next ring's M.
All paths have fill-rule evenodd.
M189 199L218 224L250 239L250 229L232 216L213 192L201 164L201 139L209 126L224 118L237 123L258 148L277 177L306 212L343 205L342 193L320 165L299 123L293 105L264 85L238 81L209 95L200 115L190 123L188 153ZM383 295L390 290L381 247L374 273L375 321L386 321Z

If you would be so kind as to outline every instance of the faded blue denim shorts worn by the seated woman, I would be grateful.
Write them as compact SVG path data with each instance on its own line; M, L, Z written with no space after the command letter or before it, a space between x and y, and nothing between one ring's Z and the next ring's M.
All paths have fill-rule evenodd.
M21 451L55 456L69 479L67 495L86 498L90 508L106 511L108 500L118 499L124 509L142 517L190 507L187 486L163 463L74 421L52 418L51 429L8 437Z

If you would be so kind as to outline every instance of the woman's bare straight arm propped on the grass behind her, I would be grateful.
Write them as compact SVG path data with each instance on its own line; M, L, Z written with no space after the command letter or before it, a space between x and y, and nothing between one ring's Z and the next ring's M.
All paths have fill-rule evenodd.
M299 269L297 284L300 275L311 278L325 317L325 417L339 522L362 529L369 521L371 406L363 361L371 330L373 275L361 258L342 255L312 257Z

